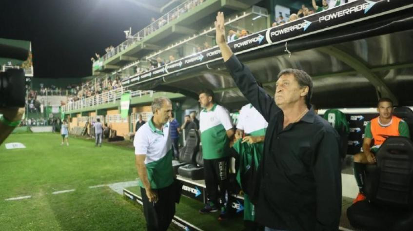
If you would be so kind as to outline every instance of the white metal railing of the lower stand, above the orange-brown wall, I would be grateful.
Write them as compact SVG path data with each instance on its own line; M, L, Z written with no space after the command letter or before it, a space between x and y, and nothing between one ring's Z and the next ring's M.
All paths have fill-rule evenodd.
M123 88L119 88L117 90L104 92L102 94L87 97L84 99L79 99L77 101L68 101L66 105L62 106L62 112L78 110L85 107L94 107L105 103L114 103L116 102L116 100L119 100L122 94L125 92L131 92L132 97L141 97L145 95L152 96L154 93L154 91L130 91L124 90Z

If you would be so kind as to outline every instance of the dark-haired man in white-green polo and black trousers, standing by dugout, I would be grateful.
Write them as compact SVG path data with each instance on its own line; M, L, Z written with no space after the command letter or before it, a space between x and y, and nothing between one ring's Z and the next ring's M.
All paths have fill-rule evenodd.
M207 204L199 212L205 214L221 209L218 220L224 220L227 213L219 198L222 202L225 201L230 160L229 140L234 135L234 129L228 110L215 103L211 90L201 91L198 101L204 108L199 115L199 131L208 196Z

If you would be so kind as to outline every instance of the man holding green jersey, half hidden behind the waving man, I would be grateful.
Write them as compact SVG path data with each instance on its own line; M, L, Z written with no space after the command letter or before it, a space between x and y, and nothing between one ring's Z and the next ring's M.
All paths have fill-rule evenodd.
M241 159L239 163L242 163L236 175L236 180L240 185L243 173L245 173L253 163L252 158L254 158L254 168L258 169L261 155L264 153L264 138L267 127L268 122L252 104L249 103L241 108L238 116L238 124L236 125L235 137L237 141L233 146ZM247 145L244 143L255 146L255 149L241 147L242 145ZM246 150L256 150L256 153L248 153L245 152ZM245 191L245 189L243 190ZM244 225L248 230L258 229L258 224L255 223L254 220L255 207L251 203L249 195L244 192Z

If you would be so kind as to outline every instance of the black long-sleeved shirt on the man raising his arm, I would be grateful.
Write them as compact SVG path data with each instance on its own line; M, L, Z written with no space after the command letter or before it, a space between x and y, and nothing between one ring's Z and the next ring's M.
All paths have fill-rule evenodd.
M310 109L283 129L284 114L251 71L225 62L242 94L268 121L259 167L256 221L288 231L337 231L341 215L339 136Z

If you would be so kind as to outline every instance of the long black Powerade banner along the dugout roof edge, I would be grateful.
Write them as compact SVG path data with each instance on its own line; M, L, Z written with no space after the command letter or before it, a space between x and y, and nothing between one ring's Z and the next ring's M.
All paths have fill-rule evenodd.
M354 24L356 28L356 23L363 20L391 14L412 7L413 3L411 0L357 0L283 25L275 26L274 28L251 34L245 38L232 41L228 43L228 45L235 54L241 54L250 50L261 49L269 45L310 36L311 34L322 31L332 30L348 24ZM121 81L121 84L124 87L132 84L135 85L198 65L204 65L220 58L221 52L219 48L213 47L143 74L125 78Z

